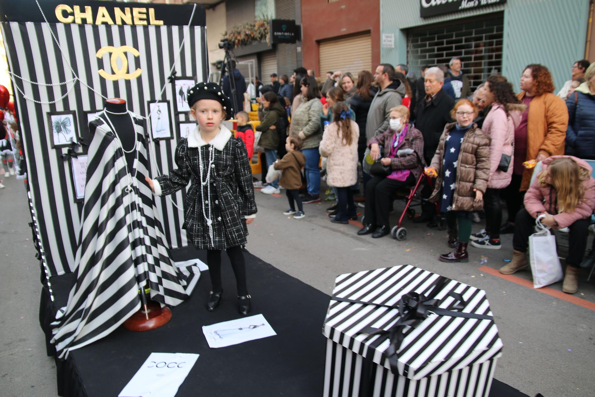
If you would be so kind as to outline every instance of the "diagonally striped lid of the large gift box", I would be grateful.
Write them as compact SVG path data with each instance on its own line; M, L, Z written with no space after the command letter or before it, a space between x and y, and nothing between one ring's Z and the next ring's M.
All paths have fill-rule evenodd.
M439 277L411 265L343 274L336 279L333 296L393 305L403 294L412 291L427 295ZM462 312L492 315L485 291L454 280L450 280L436 295L441 308L456 303L452 296L447 295L449 291L464 297ZM323 332L333 342L390 368L383 356L389 347L389 339L386 336L368 336L361 331L368 327L386 330L397 320L397 309L331 300ZM406 330L405 334L397 352L398 368L401 375L413 380L460 370L502 355L502 340L493 320L430 314L417 327Z

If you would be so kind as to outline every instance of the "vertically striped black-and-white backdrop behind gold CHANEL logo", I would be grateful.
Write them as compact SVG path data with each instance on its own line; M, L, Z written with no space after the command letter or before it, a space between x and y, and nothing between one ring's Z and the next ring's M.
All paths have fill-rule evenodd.
M35 2L20 2L22 8L32 7L29 13L39 9ZM49 3L47 9L46 5ZM134 5L132 3L98 2L102 5ZM41 2L46 15L54 14L54 2ZM81 3L82 4L82 3ZM146 7L146 4L142 5ZM196 6L193 25L189 23L194 5L172 5L159 7L177 7L180 26L131 26L92 24L65 24L24 21L2 21L2 35L7 49L10 71L23 79L13 78L13 87L17 85L28 98L23 98L14 89L18 108L18 121L23 136L24 150L27 159L27 175L30 184L31 199L46 264L51 275L63 274L73 270L74 256L77 250L77 235L80 227L80 214L83 203L76 203L73 194L73 178L70 160L62 159L67 148L51 148L51 126L48 125L49 111L76 111L76 123L80 137L88 144L87 111L96 111L104 107L104 98L76 82L73 89L64 99L59 100L71 88L73 82L64 85L53 85L67 82L74 78L68 63L71 64L80 80L101 92L107 98L124 98L129 110L141 116L148 115L147 101L168 100L172 120L173 139L165 139L155 143L155 160L162 173L175 168L173 162L177 145L177 121L187 121L187 114L175 114L174 83L168 82L170 69L176 59L181 41L186 33L186 40L175 65L177 76L193 76L196 81L208 78L208 59L206 53L205 9ZM197 17L197 15L199 17ZM55 19L55 18L54 18ZM183 22L181 22L184 20ZM196 24L198 21L198 25ZM50 29L60 42L64 51L52 38ZM107 80L98 73L99 69L111 71L110 55L96 57L96 52L105 46L131 46L140 53L134 57L126 53L129 63L128 71L137 68L142 73L136 79ZM65 61L67 58L68 63ZM36 85L31 82L44 83ZM167 82L164 94L158 97ZM79 149L82 153L86 146ZM68 157L67 157L68 159ZM156 198L156 204L164 225L167 243L171 248L188 244L186 232L181 229L185 191L178 192L170 198Z

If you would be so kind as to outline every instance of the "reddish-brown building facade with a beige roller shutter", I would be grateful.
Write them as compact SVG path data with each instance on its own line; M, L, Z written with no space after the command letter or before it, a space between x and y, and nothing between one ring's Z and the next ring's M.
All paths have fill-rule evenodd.
M357 76L380 63L380 0L301 0L303 67Z

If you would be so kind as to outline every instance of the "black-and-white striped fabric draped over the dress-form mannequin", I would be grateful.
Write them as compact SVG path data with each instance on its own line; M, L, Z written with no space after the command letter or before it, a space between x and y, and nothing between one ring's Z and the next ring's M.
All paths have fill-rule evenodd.
M138 160L127 173L120 145L101 117L105 114L92 122L96 130L89 145L76 284L52 323L59 358L107 336L136 312L139 286L148 286L155 302L176 306L190 296L200 277L196 266L176 268L164 246L145 182L149 162L142 119L136 119ZM127 187L134 173L132 194Z

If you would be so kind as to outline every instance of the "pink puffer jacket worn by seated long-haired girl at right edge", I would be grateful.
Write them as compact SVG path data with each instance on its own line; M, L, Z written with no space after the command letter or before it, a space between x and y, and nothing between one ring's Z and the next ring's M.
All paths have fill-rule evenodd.
M593 172L593 169L587 162L573 156L552 156L543 160L542 169L546 170L547 165L553 162L553 160L560 159L562 157L568 157L574 160L582 168L587 169L589 175ZM577 208L574 212L562 212L558 213L558 199L557 192L551 185L540 186L539 179L535 178L533 185L525 193L525 209L528 213L537 218L537 215L541 212L547 212L554 216L556 222L558 222L559 228L566 228L574 224L579 219L590 218L595 208L595 179L593 177L583 182L585 188L584 196L578 203Z

